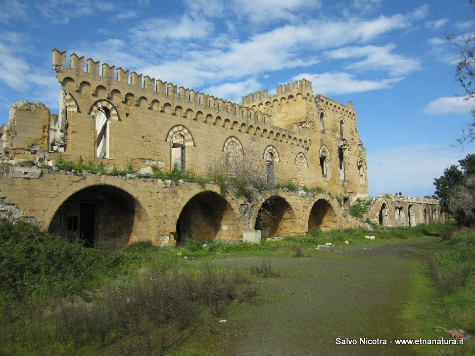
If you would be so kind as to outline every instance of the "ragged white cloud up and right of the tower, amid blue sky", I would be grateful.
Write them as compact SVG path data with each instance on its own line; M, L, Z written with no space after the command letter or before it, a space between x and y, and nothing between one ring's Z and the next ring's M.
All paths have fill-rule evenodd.
M421 69L419 60L391 53L395 47L393 44L383 47L374 45L364 47L350 46L327 52L327 56L331 59L366 57L362 61L346 66L346 69L387 70L391 76L406 75Z

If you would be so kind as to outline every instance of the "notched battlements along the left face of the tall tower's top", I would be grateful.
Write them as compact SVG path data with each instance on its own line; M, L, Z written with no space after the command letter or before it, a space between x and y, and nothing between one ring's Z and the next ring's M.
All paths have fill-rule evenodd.
M294 98L297 94L302 95L303 97L312 97L312 82L302 78L298 81L293 81L285 85L280 85L276 87L276 93L272 96L269 96L267 90L256 91L254 93L249 93L245 96L242 96L242 106L253 107L259 109L259 105L262 104L265 107L266 102L270 102L271 105L274 100L281 100L283 97L288 98L292 95Z

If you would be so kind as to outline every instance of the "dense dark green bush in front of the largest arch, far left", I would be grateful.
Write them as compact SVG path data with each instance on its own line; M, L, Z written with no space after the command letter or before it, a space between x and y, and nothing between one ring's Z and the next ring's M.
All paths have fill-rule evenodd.
M35 224L0 221L0 288L15 298L71 294L123 262L118 252L68 243Z

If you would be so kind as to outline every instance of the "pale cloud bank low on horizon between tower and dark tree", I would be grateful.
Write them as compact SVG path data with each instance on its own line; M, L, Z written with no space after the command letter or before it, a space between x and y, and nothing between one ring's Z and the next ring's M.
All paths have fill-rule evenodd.
M370 193L424 196L434 192L433 180L466 153L439 144L420 143L367 153Z

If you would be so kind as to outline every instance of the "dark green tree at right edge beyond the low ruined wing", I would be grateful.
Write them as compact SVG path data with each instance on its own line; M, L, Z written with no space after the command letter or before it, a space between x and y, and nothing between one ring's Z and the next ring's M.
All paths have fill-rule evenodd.
M434 179L435 195L440 199L443 212L451 214L460 225L471 225L474 222L470 214L467 214L466 209L461 209L460 204L454 204L454 199L460 200L460 194L455 193L460 192L467 179L475 175L475 154L461 159L459 166L446 168L443 176ZM465 194L470 195L470 186L465 188Z

